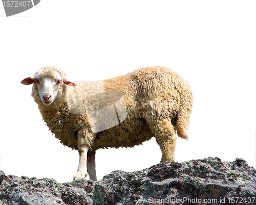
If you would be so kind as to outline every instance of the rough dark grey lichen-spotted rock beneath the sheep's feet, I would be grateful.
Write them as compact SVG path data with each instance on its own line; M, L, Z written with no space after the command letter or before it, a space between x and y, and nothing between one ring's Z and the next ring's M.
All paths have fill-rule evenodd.
M141 171L113 171L98 182L59 184L49 178L9 175L0 187L1 205L239 204L234 197L256 204L256 170L243 159L166 162Z

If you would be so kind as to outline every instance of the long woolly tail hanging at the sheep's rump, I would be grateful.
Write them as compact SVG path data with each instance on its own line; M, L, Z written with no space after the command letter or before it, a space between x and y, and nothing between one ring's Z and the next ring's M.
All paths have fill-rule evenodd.
M189 117L192 108L193 95L187 82L178 89L180 92L180 109L177 114L177 134L179 137L188 140Z

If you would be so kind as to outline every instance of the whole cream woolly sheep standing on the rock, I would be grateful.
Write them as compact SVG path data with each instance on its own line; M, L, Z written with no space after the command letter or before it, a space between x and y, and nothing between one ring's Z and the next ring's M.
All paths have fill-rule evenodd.
M165 67L141 68L101 82L73 82L60 68L46 66L21 83L33 84L32 97L49 130L63 145L78 150L73 180L89 174L97 181L99 148L133 147L155 137L162 152L160 162L166 162L174 159L176 132L183 139L189 136L190 86ZM102 110L100 105L111 107L114 114L111 109L95 114ZM114 115L118 121L113 124Z

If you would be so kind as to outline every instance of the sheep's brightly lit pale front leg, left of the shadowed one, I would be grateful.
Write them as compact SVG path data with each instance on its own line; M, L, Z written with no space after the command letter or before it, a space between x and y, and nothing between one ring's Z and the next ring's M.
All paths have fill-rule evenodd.
M85 178L87 176L87 153L89 146L86 144L78 145L79 152L79 165L77 172L73 178L73 180L79 180L81 178Z

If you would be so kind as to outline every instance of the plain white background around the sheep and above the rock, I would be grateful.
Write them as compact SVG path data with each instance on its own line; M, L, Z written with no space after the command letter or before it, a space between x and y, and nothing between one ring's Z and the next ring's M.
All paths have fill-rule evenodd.
M243 158L255 167L255 1L42 0L5 17L0 4L0 169L6 175L72 180L78 152L51 135L20 84L55 65L72 80L96 81L164 66L193 90L189 141L176 161ZM155 139L96 152L98 180L160 162Z

